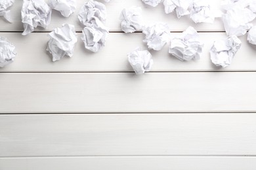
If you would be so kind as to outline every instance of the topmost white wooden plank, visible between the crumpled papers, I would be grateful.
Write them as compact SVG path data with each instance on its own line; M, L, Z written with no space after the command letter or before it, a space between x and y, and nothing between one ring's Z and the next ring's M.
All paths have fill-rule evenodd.
M62 24L74 24L77 31L81 31L82 26L79 24L77 15L80 7L85 3L83 0L77 0L77 9L75 13L69 18L63 17L59 12L53 11L51 24L47 29L37 28L35 31L52 31L54 27L60 27ZM219 8L220 0L212 1L213 8ZM144 5L140 0L112 0L110 3L106 3L106 9L108 12L108 18L106 25L110 28L110 31L121 31L119 15L121 10L126 7L139 6L142 7L142 16L144 17L145 24L155 22L166 22L170 25L171 31L184 31L186 27L192 25L196 27L198 31L224 31L223 23L218 18L214 24L194 24L190 20L189 16L184 16L178 19L175 12L173 14L165 14L163 4L158 7L150 7ZM11 7L11 17L13 23L9 24L2 17L0 18L0 31L23 31L23 25L21 22L20 10L22 8L22 0L16 0L13 7Z

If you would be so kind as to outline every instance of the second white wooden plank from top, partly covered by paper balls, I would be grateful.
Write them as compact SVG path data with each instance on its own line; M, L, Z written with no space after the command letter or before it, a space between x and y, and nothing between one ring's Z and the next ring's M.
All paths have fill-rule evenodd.
M177 36L180 33L173 33ZM127 54L137 46L146 49L142 42L144 35L134 33L110 33L106 46L98 53L85 50L81 41L75 47L73 58L51 61L51 56L45 50L49 37L47 33L32 33L23 37L20 33L0 33L16 46L17 56L13 63L0 69L0 72L104 72L133 71L127 61ZM232 65L220 69L211 63L209 49L213 41L226 37L225 33L200 33L204 42L202 58L197 61L180 61L168 54L169 44L161 51L150 51L154 58L152 71L256 71L255 49L241 37L242 47L236 54Z

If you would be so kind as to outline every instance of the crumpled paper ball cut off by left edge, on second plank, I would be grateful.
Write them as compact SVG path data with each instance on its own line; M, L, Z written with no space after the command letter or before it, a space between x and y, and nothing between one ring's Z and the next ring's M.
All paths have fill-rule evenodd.
M0 67L5 67L14 61L16 52L15 46L9 42L5 37L0 37Z

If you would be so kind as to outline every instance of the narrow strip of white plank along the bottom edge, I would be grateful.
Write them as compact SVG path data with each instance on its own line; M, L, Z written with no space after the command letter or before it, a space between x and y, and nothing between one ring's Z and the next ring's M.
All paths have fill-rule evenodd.
M1 170L251 170L255 157L66 157L66 158L0 158Z

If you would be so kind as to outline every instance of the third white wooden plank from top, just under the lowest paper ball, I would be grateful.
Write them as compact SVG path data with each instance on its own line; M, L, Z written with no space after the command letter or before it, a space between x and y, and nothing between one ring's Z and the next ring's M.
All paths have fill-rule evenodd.
M255 112L256 73L1 73L0 112Z

